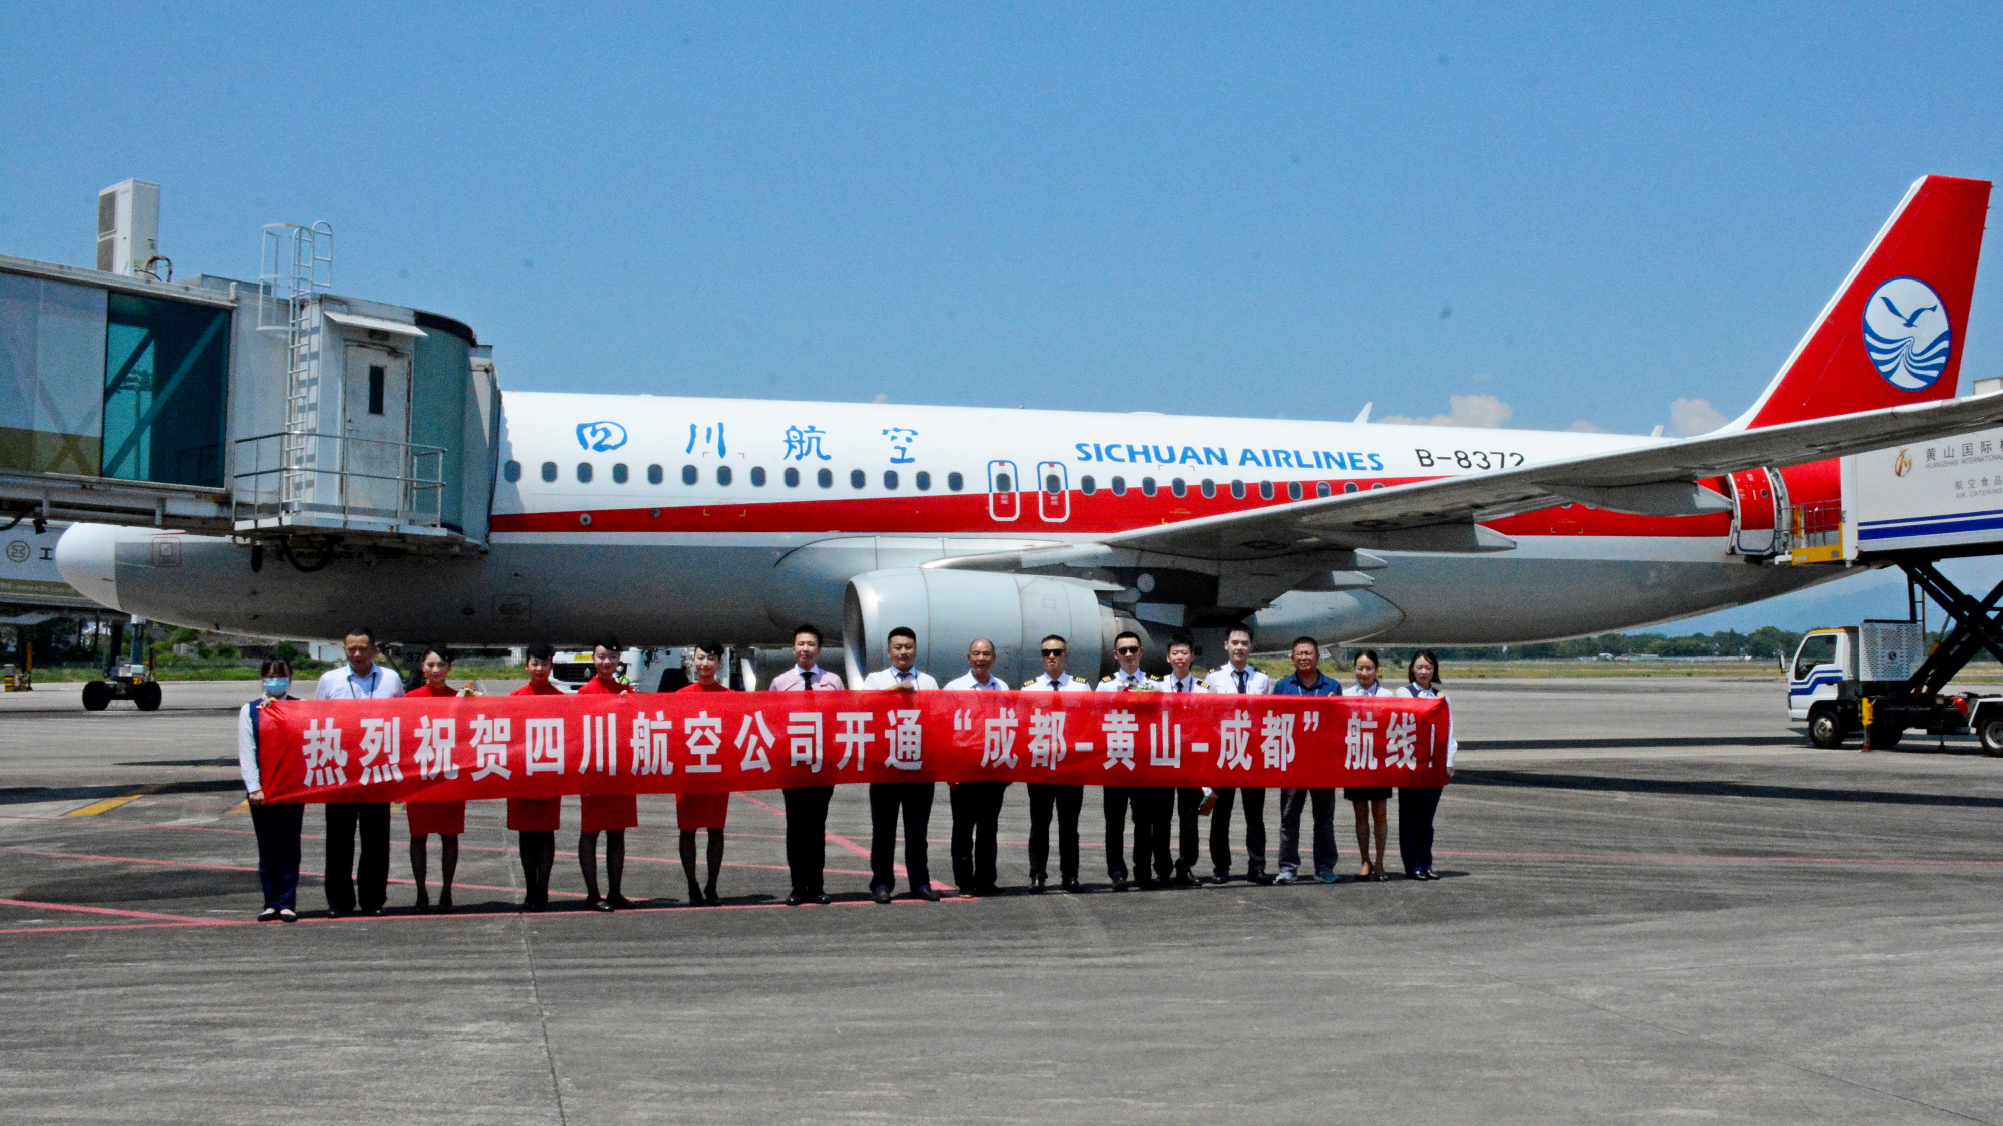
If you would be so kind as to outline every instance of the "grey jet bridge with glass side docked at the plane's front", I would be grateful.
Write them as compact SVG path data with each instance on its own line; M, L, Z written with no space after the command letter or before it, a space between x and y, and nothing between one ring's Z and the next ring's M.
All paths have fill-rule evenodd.
M104 222L156 230L120 198ZM0 523L228 535L306 569L485 549L501 403L473 329L335 293L326 224L268 226L258 280L110 258L0 256Z

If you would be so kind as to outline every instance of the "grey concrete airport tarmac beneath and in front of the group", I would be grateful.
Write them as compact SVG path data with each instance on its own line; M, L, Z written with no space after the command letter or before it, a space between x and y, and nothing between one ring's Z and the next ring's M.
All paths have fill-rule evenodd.
M170 683L150 715L6 695L0 1102L212 1124L2003 1120L2003 759L1811 749L1771 679L1450 687L1432 884L1112 894L1092 793L1088 894L877 908L843 787L831 908L777 906L779 795L749 793L723 908L679 906L673 805L643 797L647 910L569 908L563 833L569 896L521 916L477 803L459 914L409 914L397 815L395 910L296 926L248 922L252 685ZM1004 884L1026 882L1026 819L1012 789ZM947 821L941 789L945 876ZM312 809L314 872L318 829Z

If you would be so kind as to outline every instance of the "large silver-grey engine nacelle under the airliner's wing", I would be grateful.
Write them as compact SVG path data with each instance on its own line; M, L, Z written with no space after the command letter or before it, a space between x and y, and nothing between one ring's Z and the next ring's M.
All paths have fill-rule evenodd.
M967 645L987 637L995 643L993 671L1010 687L1044 673L1038 643L1052 633L1066 639L1072 675L1098 681L1112 667L1120 631L1114 611L1084 583L925 567L869 571L849 579L841 599L849 685L889 665L885 635L899 625L917 631L917 667L941 685L967 671Z

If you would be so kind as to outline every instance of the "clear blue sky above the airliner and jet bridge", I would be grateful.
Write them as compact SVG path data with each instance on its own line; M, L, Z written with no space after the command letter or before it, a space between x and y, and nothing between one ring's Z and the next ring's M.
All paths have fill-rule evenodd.
M1997 6L1384 8L8 4L0 252L140 176L182 274L324 218L515 389L1646 433L1999 172Z

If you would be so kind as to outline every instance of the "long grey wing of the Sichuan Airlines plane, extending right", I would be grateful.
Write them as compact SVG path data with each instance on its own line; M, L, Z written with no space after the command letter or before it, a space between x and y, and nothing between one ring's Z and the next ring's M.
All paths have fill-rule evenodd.
M1564 503L1640 515L1729 511L1731 501L1695 481L1961 435L1999 423L2003 393L1987 393L1294 501L1136 529L1102 543L1218 563L1342 549L1506 551L1512 541L1480 527L1480 521ZM1076 553L1076 547L1058 551ZM1022 563L1036 565L1028 557Z

